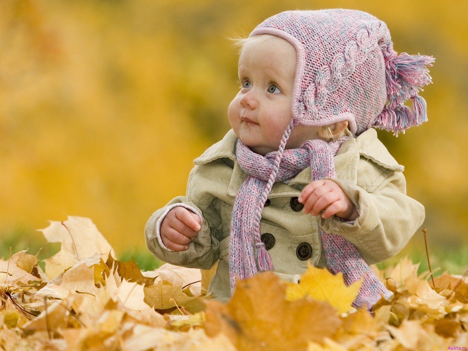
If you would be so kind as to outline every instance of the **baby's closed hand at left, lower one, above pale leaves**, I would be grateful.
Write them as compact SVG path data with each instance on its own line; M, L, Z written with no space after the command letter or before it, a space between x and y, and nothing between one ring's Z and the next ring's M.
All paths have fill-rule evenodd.
M162 243L171 250L187 250L188 243L201 229L201 220L196 213L182 206L171 209L162 220L160 234Z

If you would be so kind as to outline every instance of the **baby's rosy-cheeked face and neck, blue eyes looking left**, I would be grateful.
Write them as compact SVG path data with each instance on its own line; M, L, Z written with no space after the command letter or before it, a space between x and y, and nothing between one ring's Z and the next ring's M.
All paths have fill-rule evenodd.
M237 138L257 154L277 151L291 122L296 49L281 37L247 43L239 57L239 93L227 115ZM251 121L251 122L250 122ZM296 125L286 143L292 149L319 139L319 127Z

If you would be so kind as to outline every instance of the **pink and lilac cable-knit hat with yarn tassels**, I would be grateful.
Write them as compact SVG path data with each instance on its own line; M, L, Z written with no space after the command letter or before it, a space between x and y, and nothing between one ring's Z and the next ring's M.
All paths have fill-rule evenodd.
M282 37L296 49L292 128L347 120L356 135L370 127L398 135L427 121L417 93L431 83L426 66L435 59L398 55L387 25L373 15L343 8L284 11L249 37L259 34ZM409 98L413 111L403 104Z

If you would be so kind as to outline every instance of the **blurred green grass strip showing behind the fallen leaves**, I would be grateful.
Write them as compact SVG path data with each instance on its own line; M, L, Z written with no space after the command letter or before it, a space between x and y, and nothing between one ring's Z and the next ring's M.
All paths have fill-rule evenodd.
M60 249L59 243L48 243L42 235L37 235L25 228L10 230L9 234L0 231L0 238L0 258L3 259L8 259L10 247L12 248L12 254L25 249L29 249L27 252L32 255L39 252L39 260L54 255ZM449 271L451 274L463 274L468 269L468 245L453 247L429 245L429 252L434 276L438 276L444 271ZM395 266L404 256L408 256L414 263L420 262L419 274L428 271L424 242L416 240L412 240L398 255L377 263L377 267L383 269L388 266ZM132 258L142 271L152 271L163 264L146 248L132 248L117 253L119 261L130 261ZM40 265L44 268L44 262L40 263Z

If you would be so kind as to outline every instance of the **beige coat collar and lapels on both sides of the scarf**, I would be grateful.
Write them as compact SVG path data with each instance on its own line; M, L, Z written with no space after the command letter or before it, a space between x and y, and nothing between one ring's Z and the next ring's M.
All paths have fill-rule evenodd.
M227 195L231 197L237 195L239 188L247 177L247 173L236 162L237 158L234 154L236 141L237 137L234 130L230 129L223 139L210 146L201 156L193 161L196 165L203 165L220 158L232 160L234 168L227 188ZM366 132L361 133L357 138L346 140L341 145L338 153L335 155L336 178L347 179L356 183L360 156L393 171L402 172L404 169L377 138L376 130L370 128ZM269 197L297 196L297 190L302 190L308 183L310 183L310 166L300 171L288 184L283 182L275 183L275 187L271 190Z

